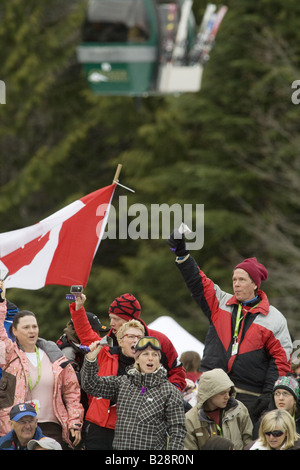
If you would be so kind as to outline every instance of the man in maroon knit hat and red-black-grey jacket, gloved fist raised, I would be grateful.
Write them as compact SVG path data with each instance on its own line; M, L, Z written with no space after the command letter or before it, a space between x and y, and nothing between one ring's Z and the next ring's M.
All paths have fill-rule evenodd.
M175 230L168 244L192 297L209 320L200 371L221 368L228 373L237 399L256 422L275 381L290 372L292 353L287 321L261 289L268 271L255 257L239 262L232 273L233 294L228 293L199 268L183 234Z

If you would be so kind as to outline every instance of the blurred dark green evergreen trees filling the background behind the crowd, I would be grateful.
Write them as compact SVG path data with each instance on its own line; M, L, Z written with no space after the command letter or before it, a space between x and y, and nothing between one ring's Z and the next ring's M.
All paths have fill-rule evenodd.
M203 5L195 2L199 20ZM221 3L221 2L217 2ZM296 0L228 0L199 93L132 98L92 95L76 60L86 2L11 0L0 7L2 231L35 223L111 183L128 205L204 204L204 247L193 255L231 290L232 268L256 256L265 290L296 337L299 277L300 6ZM120 217L120 214L119 214ZM129 218L129 223L132 218ZM195 221L194 221L195 223ZM194 227L193 227L194 228ZM149 234L151 221L149 221ZM108 321L113 298L132 292L146 322L170 314L199 339L207 322L174 267L166 240L103 240L87 308ZM68 320L67 288L12 289L56 339Z

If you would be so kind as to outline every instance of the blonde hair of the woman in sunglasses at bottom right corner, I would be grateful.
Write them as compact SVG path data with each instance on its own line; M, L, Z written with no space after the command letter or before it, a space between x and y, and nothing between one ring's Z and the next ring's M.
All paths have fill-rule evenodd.
M266 432L269 431L282 431L286 434L285 441L281 447L282 450L293 447L296 441L300 438L296 432L296 425L294 418L286 410L272 410L266 413L260 423L259 427L259 438L262 441L262 445L271 450L267 439Z

